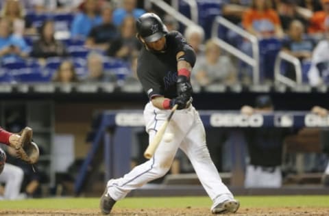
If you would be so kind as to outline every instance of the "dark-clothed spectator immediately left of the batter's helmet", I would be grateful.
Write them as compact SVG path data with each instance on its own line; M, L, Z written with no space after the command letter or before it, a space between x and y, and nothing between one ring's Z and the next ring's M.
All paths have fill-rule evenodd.
M129 61L140 49L141 43L136 38L135 19L127 16L120 27L120 36L113 40L107 54Z

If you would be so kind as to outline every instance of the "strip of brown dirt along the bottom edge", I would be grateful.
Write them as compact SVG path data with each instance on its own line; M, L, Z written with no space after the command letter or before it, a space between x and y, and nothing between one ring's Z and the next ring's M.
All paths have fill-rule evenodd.
M79 210L0 210L0 215L18 215L18 216L71 216L71 215L101 215L98 210L95 209L79 209ZM147 208L147 209L132 209L132 208L119 208L113 209L112 216L178 216L178 215L196 215L196 216L207 216L210 214L207 208ZM233 215L233 214L232 214ZM239 211L234 214L236 216L286 216L286 215L329 215L329 208L240 208Z

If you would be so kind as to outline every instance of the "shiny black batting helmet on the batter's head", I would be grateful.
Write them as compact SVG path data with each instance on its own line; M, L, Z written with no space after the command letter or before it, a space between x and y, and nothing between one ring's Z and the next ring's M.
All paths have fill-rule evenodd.
M140 16L136 21L136 29L138 36L141 36L146 42L159 40L167 33L160 17L154 13L146 13Z

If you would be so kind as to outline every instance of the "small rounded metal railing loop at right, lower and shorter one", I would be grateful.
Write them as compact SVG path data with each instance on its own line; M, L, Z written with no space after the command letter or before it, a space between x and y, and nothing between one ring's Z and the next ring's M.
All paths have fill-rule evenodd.
M293 66L295 67L296 81L293 81L292 79L289 79L288 77L285 77L281 74L280 66L282 60L293 64ZM300 60L297 59L297 57L290 55L289 53L280 51L280 53L278 53L278 56L276 57L276 62L274 64L274 80L276 81L276 83L284 83L285 85L289 85L290 87L296 87L296 85L302 84L302 66L300 64Z

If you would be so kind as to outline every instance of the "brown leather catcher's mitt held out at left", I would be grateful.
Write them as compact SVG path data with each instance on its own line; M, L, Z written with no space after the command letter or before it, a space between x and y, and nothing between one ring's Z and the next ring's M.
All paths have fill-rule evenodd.
M32 129L28 126L20 133L18 144L16 146L16 153L26 163L34 164L39 159L39 148L32 141Z

